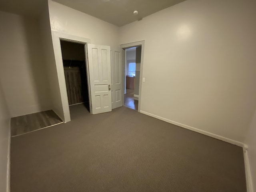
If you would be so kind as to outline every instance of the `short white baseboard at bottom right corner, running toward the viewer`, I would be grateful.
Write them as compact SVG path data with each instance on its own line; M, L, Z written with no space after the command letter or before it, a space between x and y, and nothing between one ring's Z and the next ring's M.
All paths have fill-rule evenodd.
M250 161L248 156L247 145L244 145L244 168L245 168L245 176L246 176L246 188L247 192L253 192L252 186L252 175L250 169Z

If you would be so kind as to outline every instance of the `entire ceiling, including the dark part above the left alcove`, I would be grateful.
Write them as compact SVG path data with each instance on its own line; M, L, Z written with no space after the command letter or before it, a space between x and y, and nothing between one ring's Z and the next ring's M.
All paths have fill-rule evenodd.
M184 0L54 0L116 26L123 26ZM47 0L0 0L0 10L38 16ZM139 14L134 15L134 10Z

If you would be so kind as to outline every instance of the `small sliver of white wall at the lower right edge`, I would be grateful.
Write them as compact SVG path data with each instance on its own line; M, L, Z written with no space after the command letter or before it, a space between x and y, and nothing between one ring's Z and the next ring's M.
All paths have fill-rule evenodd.
M256 189L256 110L246 136L245 144L248 145L248 156L250 162L250 170L252 176L252 184Z

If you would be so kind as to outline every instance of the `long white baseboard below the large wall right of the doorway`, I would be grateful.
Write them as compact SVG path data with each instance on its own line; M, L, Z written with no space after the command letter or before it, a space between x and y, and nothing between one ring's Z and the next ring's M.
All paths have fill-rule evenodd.
M229 139L229 138L226 138L226 137L222 137L220 135L216 135L214 133L210 133L210 132L207 132L207 131L204 131L204 130L200 130L198 128L194 128L194 127L191 127L191 126L179 123L179 122L175 122L175 121L172 121L172 120L169 120L169 119L166 119L166 118L163 118L163 117L160 117L160 116L157 116L157 115L154 115L154 114L142 111L142 110L140 110L140 112L145 114L145 115L148 115L148 116L151 116L151 117L163 120L165 122L168 122L168 123L171 123L171 124L174 124L174 125L177 125L177 126L189 129L189 130L192 130L194 132L198 132L198 133L201 133L201 134L204 134L204 135L207 135L207 136L210 136L210 137L213 137L213 138L216 138L216 139L219 139L219 140L222 140L222 141L225 141L225 142L228 142L228 143L240 146L240 147L244 147L244 144L242 142L239 142L239 141L236 141L236 140L232 140L232 139Z

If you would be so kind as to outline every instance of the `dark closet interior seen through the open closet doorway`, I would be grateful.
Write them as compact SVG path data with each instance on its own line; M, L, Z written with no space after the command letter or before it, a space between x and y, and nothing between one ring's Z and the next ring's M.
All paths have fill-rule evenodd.
M84 44L60 40L68 104L84 103L89 110L89 96Z

